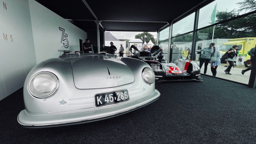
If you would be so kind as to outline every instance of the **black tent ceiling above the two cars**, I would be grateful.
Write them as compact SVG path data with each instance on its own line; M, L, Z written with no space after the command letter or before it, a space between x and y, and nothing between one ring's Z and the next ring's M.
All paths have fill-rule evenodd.
M82 30L156 32L199 4L213 0L35 0ZM161 3L160 3L161 2ZM89 8L88 8L89 7Z

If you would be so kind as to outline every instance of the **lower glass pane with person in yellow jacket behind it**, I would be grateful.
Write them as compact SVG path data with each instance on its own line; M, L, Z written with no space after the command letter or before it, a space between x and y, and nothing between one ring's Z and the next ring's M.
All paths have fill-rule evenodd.
M190 54L192 51L192 37L193 37L193 33L189 33L186 35L172 38L172 48L171 48L172 62L174 62L177 59L182 59L181 52L185 48L187 48L188 50L188 55L186 59L187 60L190 59Z

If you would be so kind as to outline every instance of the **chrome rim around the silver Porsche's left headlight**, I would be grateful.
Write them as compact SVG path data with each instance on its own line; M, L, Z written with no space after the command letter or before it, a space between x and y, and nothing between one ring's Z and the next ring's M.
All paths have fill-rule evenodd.
M30 87L31 81L32 81L36 76L38 76L39 74L42 74L42 73L47 73L47 74L52 75L52 76L56 79L56 81L57 81L57 86L56 86L55 90L52 91L49 95L46 95L46 96L39 96L39 95L36 95L36 94L34 94L34 93L31 91L31 89L30 89L30 88L31 88L31 87ZM34 74L34 75L29 79L29 81L28 81L28 91L29 91L30 95L32 95L32 96L34 96L34 97L36 97L36 98L40 98L40 99L49 98L49 97L53 96L53 95L57 92L58 89L59 89L59 79L58 79L58 77L57 77L55 74L53 74L53 73L51 73L51 72L49 72L49 71L41 71L41 72L39 72L39 73L36 73L36 74Z

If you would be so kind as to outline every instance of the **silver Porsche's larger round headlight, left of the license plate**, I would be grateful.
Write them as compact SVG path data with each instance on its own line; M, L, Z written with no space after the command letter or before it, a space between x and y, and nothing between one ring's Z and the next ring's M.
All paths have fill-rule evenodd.
M58 78L49 72L34 75L28 83L30 94L37 98L52 96L59 85Z

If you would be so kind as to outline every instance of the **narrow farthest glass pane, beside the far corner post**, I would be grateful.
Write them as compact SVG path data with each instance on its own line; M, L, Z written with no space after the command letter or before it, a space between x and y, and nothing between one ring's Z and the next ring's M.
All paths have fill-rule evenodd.
M168 59L169 31L170 31L170 27L167 27L164 30L159 32L158 45L163 49L163 56L165 60Z

